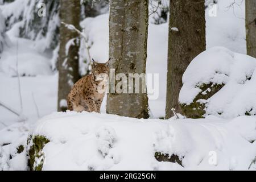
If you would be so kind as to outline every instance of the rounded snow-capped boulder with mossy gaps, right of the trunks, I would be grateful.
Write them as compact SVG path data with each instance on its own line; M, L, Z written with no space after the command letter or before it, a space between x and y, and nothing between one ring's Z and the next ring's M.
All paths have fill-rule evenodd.
M179 102L184 114L199 110L203 117L209 114L222 118L255 115L255 68L256 59L224 47L200 53L183 75Z

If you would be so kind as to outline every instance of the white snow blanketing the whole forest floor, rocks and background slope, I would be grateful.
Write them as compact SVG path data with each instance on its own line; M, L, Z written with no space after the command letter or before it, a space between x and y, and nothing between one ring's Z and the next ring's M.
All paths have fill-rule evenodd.
M59 47L53 53L49 53L47 49L51 48L55 37L53 32L60 23L59 18L56 14L52 14L45 38L34 37L33 32L27 33L28 38L34 41L16 38L20 36L19 28L26 27L26 22L20 22L19 18L22 16L31 18L29 14L35 9L32 5L27 7L27 2L23 0L1 5L3 16L10 17L7 24L10 30L7 35L11 40L10 45L7 45L1 53L0 101L15 110L21 110L17 102L19 101L16 77L18 41L19 73L23 76L20 77L22 115L27 117L27 120L21 121L23 119L0 106L0 170L27 169L26 151L16 154L16 148L20 144L26 146L28 133L43 134L51 139L43 150L46 154L44 169L247 169L256 155L256 143L253 142L256 133L255 117L237 117L237 115L244 114L245 109L250 110L251 106L255 105L255 94L253 94L255 93L253 86L255 59L238 54L246 53L245 6L243 1L240 7L235 5L234 10L228 9L230 2L232 0L218 0L217 16L210 17L209 9L206 10L209 52L202 53L205 60L200 60L201 65L198 67L203 67L209 72L200 69L198 73L204 73L204 77L201 77L201 74L198 75L199 77L191 75L191 79L209 81L213 68L229 73L229 77L213 74L212 80L223 81L226 85L209 102L207 112L210 115L207 114L205 119L196 120L157 119L165 115L168 22L159 25L150 23L148 27L146 72L159 74L159 97L148 101L151 117L155 119L133 119L105 114L106 97L101 106L101 114L53 113L57 110L58 75L52 70L56 70ZM101 63L109 58L108 16L104 14L96 18L86 18L81 22L81 27L85 28L86 36L89 38L91 56ZM151 15L150 22L155 23L155 18L159 18L158 15ZM160 21L164 22L163 19ZM0 26L0 29L2 27ZM216 46L223 46L231 51L219 47L210 49ZM214 51L214 55L210 56ZM81 75L87 71L88 63L84 63L86 59L88 56L85 44L81 42ZM243 61L246 64L242 64ZM193 61L192 64L196 64L194 62L197 61ZM251 80L245 81L246 75L250 74L253 74ZM183 88L184 93L188 94L182 96L185 102L190 102L199 92L192 87L195 82L190 78L188 80L191 83L187 85L187 90ZM232 89L233 86L235 87ZM225 107L222 118L214 117L214 112L220 106ZM255 112L254 107L251 113ZM179 118L184 118L178 115ZM34 126L39 117L43 118ZM156 150L184 156L184 168L179 164L157 162L154 158ZM217 158L214 158L215 156ZM255 165L252 164L251 169L255 170Z

